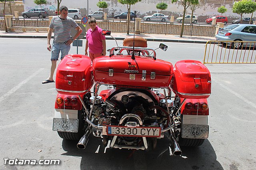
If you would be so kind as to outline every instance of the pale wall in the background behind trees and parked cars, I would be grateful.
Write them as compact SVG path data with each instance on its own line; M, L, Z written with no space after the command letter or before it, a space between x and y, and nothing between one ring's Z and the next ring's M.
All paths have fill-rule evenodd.
M101 0L88 0L89 9L88 12L94 12L98 10L102 10L96 6L97 2ZM104 9L104 12L108 14L120 14L122 12L127 11L127 6L118 3L117 0L105 0L108 4L108 8ZM172 4L170 0L142 0L141 2L136 3L131 6L131 11L136 10L138 12L138 17L142 18L143 16L150 15L152 13L160 12L156 9L156 4L160 2L165 2L168 4L168 8L162 11L163 14L169 16L175 16L175 18L183 15L183 6L180 2L176 2ZM194 15L198 16L198 20L204 22L206 18L210 18L212 16L220 15L218 13L218 7L224 6L228 9L228 11L224 14L224 16L228 17L229 22L232 20L239 18L238 14L232 13L232 3L233 0L202 0L201 7L196 9ZM62 0L61 5L66 5L68 8L78 8L82 12L83 15L87 14L87 0ZM24 10L27 11L30 8L39 7L32 0L24 0ZM42 5L42 8L46 8L50 11L54 11L57 8L56 0L47 0L47 5ZM187 9L186 14L191 14L191 10ZM244 14L244 17L250 17L250 14ZM256 14L254 14L254 17Z

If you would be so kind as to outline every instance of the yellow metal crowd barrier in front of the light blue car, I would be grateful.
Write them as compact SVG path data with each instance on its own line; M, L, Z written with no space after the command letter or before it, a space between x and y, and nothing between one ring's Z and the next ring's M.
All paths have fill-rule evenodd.
M256 42L208 41L205 63L256 63Z

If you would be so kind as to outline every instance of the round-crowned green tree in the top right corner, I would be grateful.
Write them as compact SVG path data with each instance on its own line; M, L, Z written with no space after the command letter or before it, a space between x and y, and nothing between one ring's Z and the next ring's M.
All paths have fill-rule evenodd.
M240 15L240 23L242 23L242 15L250 14L256 11L256 2L252 0L242 0L235 2L232 8L233 13Z

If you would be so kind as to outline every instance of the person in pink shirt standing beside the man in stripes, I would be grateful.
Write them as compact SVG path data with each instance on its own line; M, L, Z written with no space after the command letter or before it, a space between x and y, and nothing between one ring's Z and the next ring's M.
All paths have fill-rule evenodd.
M90 29L86 34L85 55L93 61L94 58L106 55L106 38L102 35L102 29L97 26L95 18L89 19Z

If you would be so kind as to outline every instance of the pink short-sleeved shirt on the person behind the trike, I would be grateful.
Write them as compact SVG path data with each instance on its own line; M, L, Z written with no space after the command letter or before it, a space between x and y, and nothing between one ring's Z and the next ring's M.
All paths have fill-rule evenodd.
M102 53L103 46L102 40L106 40L105 36L102 35L102 29L96 26L92 31L90 28L86 34L86 40L88 40L89 52L93 54Z

